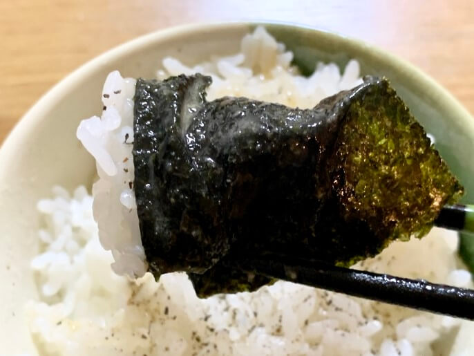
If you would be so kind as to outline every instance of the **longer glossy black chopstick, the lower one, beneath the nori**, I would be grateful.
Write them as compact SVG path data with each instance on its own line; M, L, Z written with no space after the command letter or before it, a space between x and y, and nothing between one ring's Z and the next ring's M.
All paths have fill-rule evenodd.
M249 259L241 270L355 297L474 320L474 290L281 256Z

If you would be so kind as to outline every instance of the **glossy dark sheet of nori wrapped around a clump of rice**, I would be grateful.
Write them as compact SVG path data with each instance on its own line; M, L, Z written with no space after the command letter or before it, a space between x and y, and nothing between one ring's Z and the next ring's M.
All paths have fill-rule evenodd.
M423 236L463 188L386 79L292 109L207 102L211 78L138 79L133 161L155 277L185 271L198 295L253 290L259 256L348 266Z

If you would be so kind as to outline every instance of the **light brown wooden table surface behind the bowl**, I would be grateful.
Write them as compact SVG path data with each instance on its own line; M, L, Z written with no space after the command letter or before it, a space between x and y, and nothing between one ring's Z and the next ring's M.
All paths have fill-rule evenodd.
M88 59L160 28L231 19L290 21L358 37L413 62L474 113L473 0L1 0L0 142L48 88Z

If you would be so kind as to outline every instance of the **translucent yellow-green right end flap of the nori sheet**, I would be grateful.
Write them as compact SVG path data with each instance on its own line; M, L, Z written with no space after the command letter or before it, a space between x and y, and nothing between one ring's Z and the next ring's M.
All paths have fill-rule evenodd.
M379 234L424 236L440 209L464 192L387 81L352 102L339 134L341 163L332 167L344 182L345 216Z

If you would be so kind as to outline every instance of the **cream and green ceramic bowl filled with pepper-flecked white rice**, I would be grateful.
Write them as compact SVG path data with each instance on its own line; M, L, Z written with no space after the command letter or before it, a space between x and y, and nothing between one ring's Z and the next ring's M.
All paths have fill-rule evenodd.
M474 201L473 118L403 60L354 39L287 24L201 24L155 32L66 77L1 147L2 353L471 354L470 321L285 281L199 299L184 273L158 281L149 273L138 279L120 275L120 265L99 240L96 165L77 128L97 115L102 122L121 120L109 131L125 130L135 78L182 73L211 75L209 100L246 96L300 108L360 84L363 75L388 77L466 187L464 199ZM101 114L103 106L113 110ZM101 134L89 143L95 158ZM128 206L126 195L120 199ZM433 228L425 238L392 243L354 268L472 288L457 245L457 234Z

